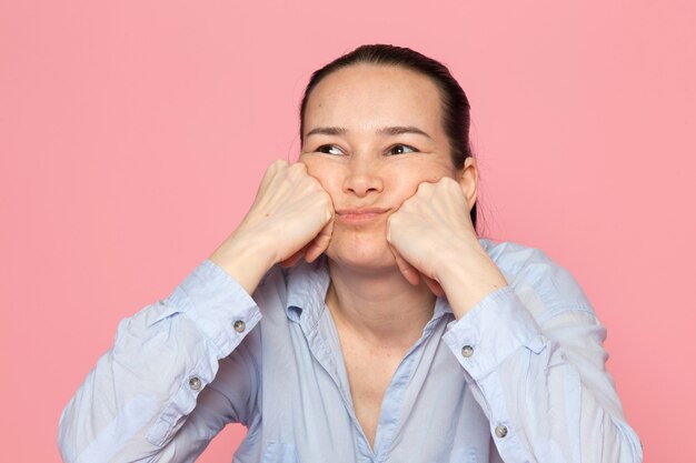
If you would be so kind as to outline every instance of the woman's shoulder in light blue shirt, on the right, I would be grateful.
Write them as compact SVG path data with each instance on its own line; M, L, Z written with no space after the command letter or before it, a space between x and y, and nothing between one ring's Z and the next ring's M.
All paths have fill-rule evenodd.
M569 310L594 312L575 278L543 251L513 242L479 242L537 320Z

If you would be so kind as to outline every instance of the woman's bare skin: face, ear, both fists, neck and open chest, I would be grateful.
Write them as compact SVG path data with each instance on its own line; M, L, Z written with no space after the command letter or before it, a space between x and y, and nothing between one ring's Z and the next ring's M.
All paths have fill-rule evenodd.
M299 162L268 169L210 259L251 293L274 264L326 253L326 303L374 445L385 390L436 295L459 319L507 282L469 218L476 163L454 168L429 78L385 66L338 70L310 94L305 128Z

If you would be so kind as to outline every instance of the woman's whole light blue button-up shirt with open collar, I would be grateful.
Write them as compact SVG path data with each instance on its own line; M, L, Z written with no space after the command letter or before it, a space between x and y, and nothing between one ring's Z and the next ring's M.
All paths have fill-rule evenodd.
M437 300L387 387L374 449L326 262L275 268L251 298L205 261L121 322L63 411L64 461L192 462L239 422L235 462L640 462L577 283L537 250L480 242L509 286L458 321Z

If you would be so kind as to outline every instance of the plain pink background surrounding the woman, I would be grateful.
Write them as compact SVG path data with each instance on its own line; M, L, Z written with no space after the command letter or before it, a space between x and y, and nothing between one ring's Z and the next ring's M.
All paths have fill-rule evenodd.
M585 288L645 461L696 461L693 0L241 3L0 2L2 460L59 461L60 411L119 320L295 158L309 73L388 42L469 94L486 234Z

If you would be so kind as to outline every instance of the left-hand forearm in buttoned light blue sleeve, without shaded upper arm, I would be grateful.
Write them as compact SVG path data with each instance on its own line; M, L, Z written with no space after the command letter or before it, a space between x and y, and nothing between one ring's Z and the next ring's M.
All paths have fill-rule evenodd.
M253 301L232 285L205 262L170 298L121 322L113 348L61 416L66 462L138 461L163 451L213 380L219 359L260 319ZM238 321L243 330L236 330Z

